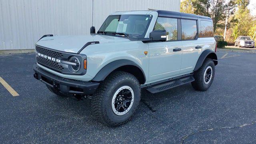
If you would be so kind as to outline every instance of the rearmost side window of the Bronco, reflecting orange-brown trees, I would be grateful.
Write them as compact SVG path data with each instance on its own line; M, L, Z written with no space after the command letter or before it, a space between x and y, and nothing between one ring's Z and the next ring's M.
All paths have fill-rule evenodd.
M207 20L201 20L201 31L199 33L199 37L206 38L206 37L212 37L212 36L213 36L212 22Z

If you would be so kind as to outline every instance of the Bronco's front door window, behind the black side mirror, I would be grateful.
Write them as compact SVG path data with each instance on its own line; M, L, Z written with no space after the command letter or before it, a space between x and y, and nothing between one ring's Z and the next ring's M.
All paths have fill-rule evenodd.
M178 20L176 18L158 17L154 30L166 30L166 41L178 39Z

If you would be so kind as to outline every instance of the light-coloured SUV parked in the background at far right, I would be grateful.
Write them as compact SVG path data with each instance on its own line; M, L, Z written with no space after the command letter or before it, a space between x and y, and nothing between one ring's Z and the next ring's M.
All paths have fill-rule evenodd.
M235 42L235 46L246 46L250 48L254 48L255 42L252 40L250 36L238 36Z

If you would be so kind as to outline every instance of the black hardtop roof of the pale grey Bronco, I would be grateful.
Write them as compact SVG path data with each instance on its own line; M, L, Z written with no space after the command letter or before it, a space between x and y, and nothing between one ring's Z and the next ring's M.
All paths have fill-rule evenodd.
M174 17L174 18L188 18L188 19L208 19L212 20L210 17L207 16L199 16L196 14L187 14L183 12L172 12L172 11L167 11L167 10L157 10L159 16L167 16L167 17Z

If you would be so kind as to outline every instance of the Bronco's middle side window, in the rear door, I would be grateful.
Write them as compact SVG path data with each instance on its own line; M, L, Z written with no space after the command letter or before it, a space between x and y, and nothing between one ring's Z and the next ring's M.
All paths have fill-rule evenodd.
M196 20L181 19L182 40L194 40L196 38Z

